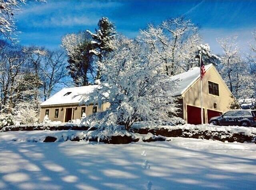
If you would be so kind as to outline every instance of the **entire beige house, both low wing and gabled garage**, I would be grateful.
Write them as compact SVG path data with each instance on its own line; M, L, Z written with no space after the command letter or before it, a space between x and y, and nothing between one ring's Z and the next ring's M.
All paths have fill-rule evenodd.
M214 65L206 65L205 69L206 73L202 80L203 119L204 123L208 123L210 118L220 116L228 110L239 109L240 106ZM172 79L178 80L178 86L174 91L180 108L178 117L190 124L201 124L200 68L194 67L188 72L172 76ZM60 90L40 104L39 122L46 114L52 121L67 122L72 119L81 119L83 113L88 116L106 110L109 103L104 103L102 107L93 104L80 106L81 94L89 94L97 87L98 85L92 85Z

